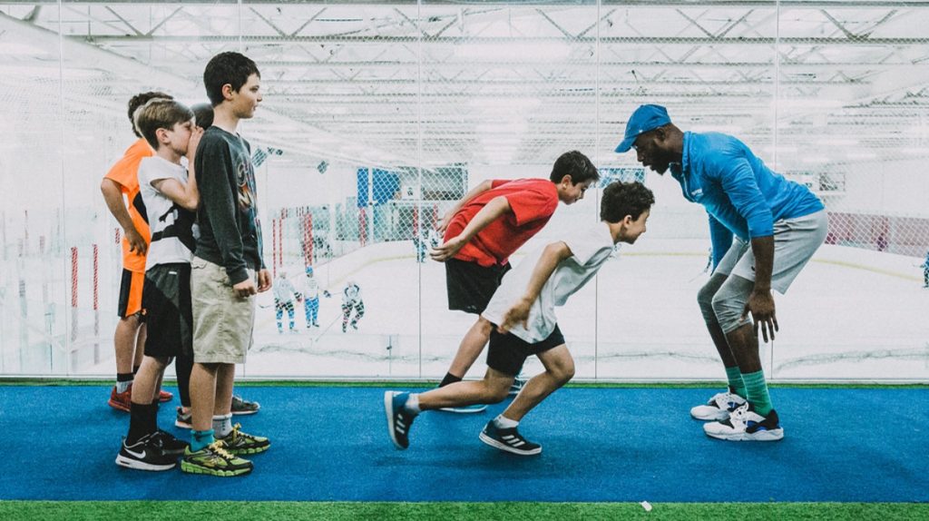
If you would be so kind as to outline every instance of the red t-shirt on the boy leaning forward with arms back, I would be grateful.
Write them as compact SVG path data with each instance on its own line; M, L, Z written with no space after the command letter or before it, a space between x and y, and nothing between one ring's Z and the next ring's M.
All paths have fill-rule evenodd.
M454 258L480 266L504 265L513 252L539 232L555 214L558 189L548 179L495 179L491 189L465 202L451 218L445 241L457 236L495 197L503 196L513 213L507 213L475 235Z

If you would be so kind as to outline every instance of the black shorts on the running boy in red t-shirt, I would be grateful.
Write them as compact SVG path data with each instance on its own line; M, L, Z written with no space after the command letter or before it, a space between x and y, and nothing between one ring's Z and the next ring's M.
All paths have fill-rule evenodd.
M476 262L459 259L445 261L445 285L449 292L449 309L474 313L484 312L493 292L500 287L510 264L483 267Z

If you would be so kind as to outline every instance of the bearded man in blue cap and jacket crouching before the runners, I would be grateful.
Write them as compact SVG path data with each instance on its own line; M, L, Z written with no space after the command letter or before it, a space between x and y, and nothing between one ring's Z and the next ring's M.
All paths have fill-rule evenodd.
M765 342L774 340L778 319L771 290L785 293L826 239L822 202L767 168L739 139L682 132L659 105L643 105L629 118L616 151L630 149L642 166L659 174L670 169L685 199L702 204L710 217L713 276L697 300L729 388L691 415L710 421L703 425L708 436L781 439L784 430L758 356L758 329Z

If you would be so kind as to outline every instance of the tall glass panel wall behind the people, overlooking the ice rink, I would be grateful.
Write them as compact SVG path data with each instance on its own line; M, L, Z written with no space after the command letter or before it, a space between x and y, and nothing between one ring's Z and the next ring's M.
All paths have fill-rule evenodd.
M440 378L476 320L448 309L428 256L443 217L485 181L547 178L580 150L603 181L559 204L514 265L596 226L608 181L641 180L657 202L648 232L556 311L577 377L721 378L696 305L706 214L613 151L657 103L682 130L739 137L827 206L826 244L776 295L765 370L925 379L927 19L879 2L0 2L0 375L114 371L124 229L100 189L137 140L126 103L206 101L203 67L231 50L262 73L240 131L266 265L293 286L257 297L247 377ZM343 306L356 284L360 318Z

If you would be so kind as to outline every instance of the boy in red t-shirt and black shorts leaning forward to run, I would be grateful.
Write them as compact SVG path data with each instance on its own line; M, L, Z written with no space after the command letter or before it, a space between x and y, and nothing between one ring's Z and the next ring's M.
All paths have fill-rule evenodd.
M491 337L491 322L480 316L509 270L509 256L539 232L558 202L573 204L600 178L581 152L561 154L549 179L494 179L480 183L442 217L444 243L429 255L445 263L449 309L478 315L464 335L451 368L439 386L461 382ZM448 409L479 412L486 405Z

